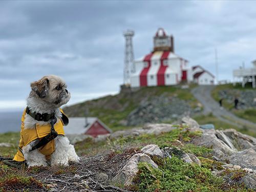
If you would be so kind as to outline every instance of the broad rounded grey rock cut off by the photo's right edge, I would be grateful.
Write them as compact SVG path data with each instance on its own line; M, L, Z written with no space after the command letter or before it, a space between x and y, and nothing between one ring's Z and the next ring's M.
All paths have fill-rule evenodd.
M240 165L242 168L251 168L256 170L256 146L232 154L228 157L230 163Z

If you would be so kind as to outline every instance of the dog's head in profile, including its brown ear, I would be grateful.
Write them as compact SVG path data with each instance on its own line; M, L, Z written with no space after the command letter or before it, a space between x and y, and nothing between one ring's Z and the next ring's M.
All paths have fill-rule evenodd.
M44 76L38 81L32 82L30 86L30 97L39 98L56 108L66 104L71 97L66 83L55 75Z

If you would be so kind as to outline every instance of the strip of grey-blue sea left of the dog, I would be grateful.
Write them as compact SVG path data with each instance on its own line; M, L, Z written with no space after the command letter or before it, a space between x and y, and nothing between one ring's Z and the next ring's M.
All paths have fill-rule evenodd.
M22 113L22 111L0 112L0 133L19 132Z

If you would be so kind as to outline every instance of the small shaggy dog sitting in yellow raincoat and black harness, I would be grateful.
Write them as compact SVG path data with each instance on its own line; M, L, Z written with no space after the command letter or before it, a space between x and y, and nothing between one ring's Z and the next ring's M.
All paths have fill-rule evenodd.
M78 162L74 146L63 131L68 117L60 106L70 100L66 83L58 76L44 76L31 83L22 117L20 141L13 160L31 166L69 165Z

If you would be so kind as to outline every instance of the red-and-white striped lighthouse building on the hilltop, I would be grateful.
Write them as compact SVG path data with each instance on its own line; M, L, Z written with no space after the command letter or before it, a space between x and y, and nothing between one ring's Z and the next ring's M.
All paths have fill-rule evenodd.
M188 61L174 53L174 37L159 28L154 36L154 50L134 61L131 87L170 86L191 82Z

